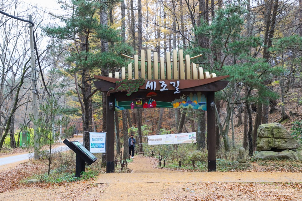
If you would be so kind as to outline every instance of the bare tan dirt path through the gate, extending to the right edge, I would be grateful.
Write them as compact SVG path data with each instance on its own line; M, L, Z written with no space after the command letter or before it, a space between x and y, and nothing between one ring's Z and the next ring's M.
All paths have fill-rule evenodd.
M190 194L195 192L191 190L190 183L302 182L302 173L175 172L165 169L154 169L151 159L143 156L136 156L134 162L128 164L128 168L132 169L133 172L130 174L99 175L96 183L109 183L108 188L102 193L102 200L163 199L166 196L173 197L184 193L182 192L183 189ZM295 193L299 195L301 192L296 191Z

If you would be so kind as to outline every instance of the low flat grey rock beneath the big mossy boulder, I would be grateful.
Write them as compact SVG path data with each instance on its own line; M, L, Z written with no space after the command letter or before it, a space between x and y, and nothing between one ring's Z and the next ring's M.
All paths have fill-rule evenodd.
M257 159L294 159L294 160L302 160L302 156L295 151L292 150L284 150L281 152L275 151L259 151L255 158Z

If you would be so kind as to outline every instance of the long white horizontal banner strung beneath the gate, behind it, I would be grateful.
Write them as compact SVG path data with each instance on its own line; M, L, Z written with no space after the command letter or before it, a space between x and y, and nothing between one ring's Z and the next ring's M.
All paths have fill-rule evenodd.
M148 135L148 145L168 145L196 142L196 133Z

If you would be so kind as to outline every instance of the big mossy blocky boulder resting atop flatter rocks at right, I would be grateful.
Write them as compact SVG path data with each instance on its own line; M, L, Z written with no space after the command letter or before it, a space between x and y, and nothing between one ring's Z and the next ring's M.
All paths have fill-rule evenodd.
M297 149L297 141L279 123L261 124L257 130L257 150Z

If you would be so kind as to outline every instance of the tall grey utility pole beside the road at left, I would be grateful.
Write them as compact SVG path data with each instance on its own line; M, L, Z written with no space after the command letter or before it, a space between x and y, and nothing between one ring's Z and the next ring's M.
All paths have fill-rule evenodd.
M33 22L33 17L28 16L29 21ZM33 88L33 118L38 119L38 109L37 109L37 88L36 88L36 62L35 62L35 49L33 42L33 25L29 25L29 36L30 36L30 60L32 65L32 88ZM33 136L34 136L34 159L39 159L39 137L37 134L37 126L33 124Z

